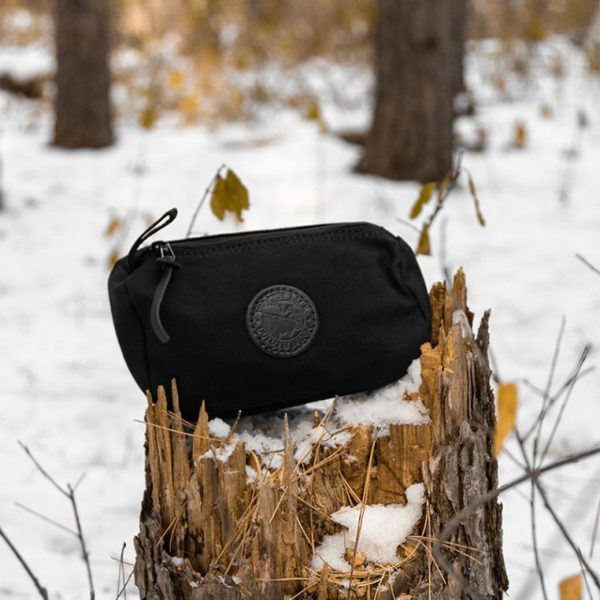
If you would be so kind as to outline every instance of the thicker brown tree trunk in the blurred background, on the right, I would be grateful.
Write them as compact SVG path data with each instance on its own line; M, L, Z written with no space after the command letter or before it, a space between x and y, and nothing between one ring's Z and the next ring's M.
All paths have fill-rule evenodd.
M377 0L375 112L363 173L439 181L452 166L466 0Z

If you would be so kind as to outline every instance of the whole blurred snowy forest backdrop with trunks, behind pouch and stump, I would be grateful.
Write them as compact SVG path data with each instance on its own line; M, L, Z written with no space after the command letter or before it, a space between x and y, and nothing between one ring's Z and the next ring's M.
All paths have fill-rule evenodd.
M86 474L96 597L115 598L144 405L108 270L171 206L183 235L224 166L249 208L213 202L196 234L369 220L428 285L463 265L518 422L555 411L554 459L598 444L599 107L598 0L1 0L0 530L51 597L85 597L87 578L78 541L32 514L71 518L17 441L60 481ZM593 462L548 490L597 565ZM519 473L502 453L501 481ZM530 500L503 497L510 595L556 597L580 562L542 510L534 548ZM34 597L3 544L0 597Z

